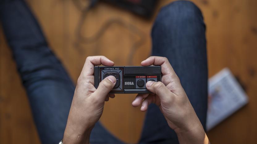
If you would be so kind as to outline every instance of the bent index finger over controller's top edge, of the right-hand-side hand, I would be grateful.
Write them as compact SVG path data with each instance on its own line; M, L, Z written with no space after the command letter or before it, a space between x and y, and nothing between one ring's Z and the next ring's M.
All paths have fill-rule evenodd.
M151 66L151 65L161 66L163 75L166 75L166 74L176 75L169 60L165 57L151 56L146 60L142 61L141 65L142 66Z

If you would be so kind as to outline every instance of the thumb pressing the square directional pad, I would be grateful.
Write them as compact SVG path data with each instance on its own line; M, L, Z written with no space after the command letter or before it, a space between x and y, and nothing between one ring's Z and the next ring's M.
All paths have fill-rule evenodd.
M112 75L104 78L100 83L98 88L95 90L94 94L95 96L102 98L102 100L105 99L107 94L112 90L112 88L115 86L116 78ZM108 97L109 98L109 97Z

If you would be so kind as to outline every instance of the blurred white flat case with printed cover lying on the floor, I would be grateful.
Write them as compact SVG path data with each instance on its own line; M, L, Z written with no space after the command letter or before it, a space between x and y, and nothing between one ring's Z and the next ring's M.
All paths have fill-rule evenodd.
M248 103L248 97L228 68L209 79L207 130Z

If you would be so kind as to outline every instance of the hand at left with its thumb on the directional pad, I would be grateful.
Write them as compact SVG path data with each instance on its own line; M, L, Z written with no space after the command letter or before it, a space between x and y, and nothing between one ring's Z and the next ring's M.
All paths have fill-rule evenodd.
M104 102L114 98L108 94L116 83L114 76L108 76L94 86L94 66L113 66L114 62L104 56L87 57L82 72L78 78L70 113L65 128L63 143L89 143L89 136L95 123L103 113Z

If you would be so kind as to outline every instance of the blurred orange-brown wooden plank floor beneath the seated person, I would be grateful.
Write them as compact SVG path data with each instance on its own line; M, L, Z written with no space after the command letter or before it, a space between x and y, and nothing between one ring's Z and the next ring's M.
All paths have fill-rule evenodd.
M161 0L155 11L169 3ZM250 102L207 134L213 144L254 144L257 135L257 1L193 0L207 25L209 76L229 67L246 88ZM110 18L120 18L140 29L143 44L133 49L138 34L118 24L111 25L97 42L76 45L75 28L81 12L70 0L28 0L48 42L76 82L85 58L105 55L116 65L139 65L150 54L150 30L154 17L144 20L127 11L99 3L86 16L82 35L91 36ZM0 30L0 143L40 143L26 93L15 62ZM130 57L134 51L135 56ZM101 121L125 142L140 137L145 113L133 108L134 94L120 94L106 103Z

